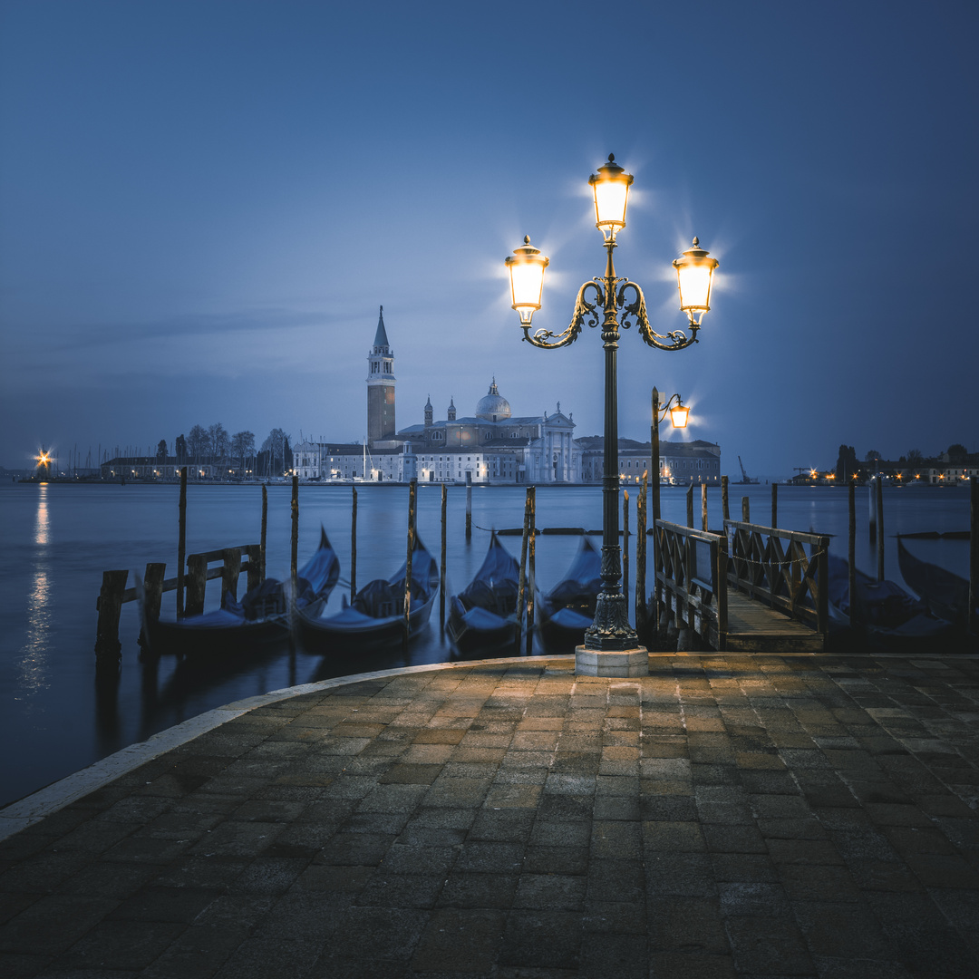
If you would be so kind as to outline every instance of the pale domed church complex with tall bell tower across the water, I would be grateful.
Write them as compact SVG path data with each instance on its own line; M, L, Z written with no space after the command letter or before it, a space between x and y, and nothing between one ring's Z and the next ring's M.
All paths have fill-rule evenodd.
M297 476L322 482L407 483L417 479L422 483L536 486L601 480L598 453L588 444L593 440L575 439L573 416L561 410L560 401L552 413L514 415L495 378L474 414L459 417L452 397L444 419L436 421L430 396L423 409L424 422L398 430L394 367L382 306L374 344L367 354L366 443L306 440L295 445L293 472ZM703 453L704 472L714 477L715 467L720 469L720 446L705 450L697 443L692 445L696 447L683 446L680 454L692 460ZM663 443L665 458L673 447ZM624 453L629 449L621 447L620 471L627 461ZM630 466L635 464L628 461ZM712 463L709 470L708 461ZM669 468L668 463L668 474Z

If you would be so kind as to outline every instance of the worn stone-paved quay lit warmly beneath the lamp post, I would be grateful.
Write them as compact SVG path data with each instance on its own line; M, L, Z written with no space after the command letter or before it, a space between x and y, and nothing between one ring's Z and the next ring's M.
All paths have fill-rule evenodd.
M979 975L979 660L418 668L0 844L5 979Z

